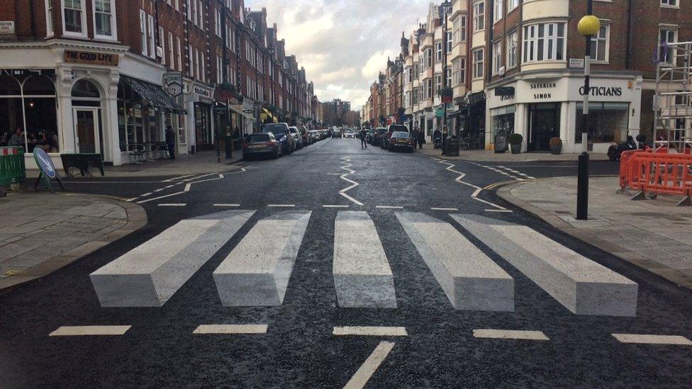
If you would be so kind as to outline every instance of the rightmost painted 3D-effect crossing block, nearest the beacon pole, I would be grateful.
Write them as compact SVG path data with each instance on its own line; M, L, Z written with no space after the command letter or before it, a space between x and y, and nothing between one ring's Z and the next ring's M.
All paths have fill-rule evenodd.
M577 315L635 316L637 283L523 225L450 215Z

